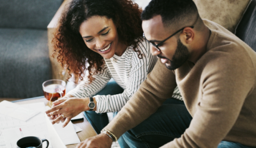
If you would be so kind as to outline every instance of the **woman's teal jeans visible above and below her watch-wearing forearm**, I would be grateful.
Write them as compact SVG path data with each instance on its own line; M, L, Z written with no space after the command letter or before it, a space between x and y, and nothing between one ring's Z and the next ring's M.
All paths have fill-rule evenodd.
M115 94L121 94L124 91L123 88L121 88L114 79L110 79L110 81L107 83L105 88L103 88L101 91L98 92L96 95L115 95ZM108 115L107 113L96 113L95 111L85 111L87 117L86 119L93 123L96 128L96 131L99 132L107 126L108 124Z

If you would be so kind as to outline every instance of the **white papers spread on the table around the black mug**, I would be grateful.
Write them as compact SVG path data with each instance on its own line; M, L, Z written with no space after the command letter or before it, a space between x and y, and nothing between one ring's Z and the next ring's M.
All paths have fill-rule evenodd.
M63 123L52 125L45 111L43 102L24 105L0 102L0 148L16 148L18 139L26 136L47 139L49 148L80 143L76 134L76 131L81 131L79 127L76 126L75 130L71 122L64 128ZM46 147L45 144L44 142L43 147Z

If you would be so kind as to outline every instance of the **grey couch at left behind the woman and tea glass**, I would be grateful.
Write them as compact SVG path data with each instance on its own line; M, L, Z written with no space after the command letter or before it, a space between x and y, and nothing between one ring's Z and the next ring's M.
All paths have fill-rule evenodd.
M63 0L0 0L0 98L42 96L52 79L47 25Z

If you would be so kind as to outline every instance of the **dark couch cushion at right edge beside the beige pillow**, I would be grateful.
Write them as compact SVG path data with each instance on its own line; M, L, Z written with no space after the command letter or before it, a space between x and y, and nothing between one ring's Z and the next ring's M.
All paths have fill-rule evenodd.
M256 52L256 0L251 1L241 22L239 22L236 36Z

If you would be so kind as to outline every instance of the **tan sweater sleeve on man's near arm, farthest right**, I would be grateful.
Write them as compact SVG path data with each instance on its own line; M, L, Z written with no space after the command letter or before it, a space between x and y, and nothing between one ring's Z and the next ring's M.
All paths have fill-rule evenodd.
M207 57L211 60L205 63L201 75L203 94L193 120L179 139L163 148L217 147L235 125L246 96L254 89L255 70L245 52L235 56L230 53L216 52Z

